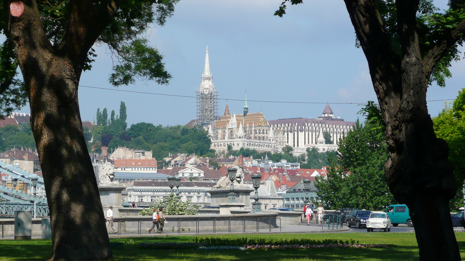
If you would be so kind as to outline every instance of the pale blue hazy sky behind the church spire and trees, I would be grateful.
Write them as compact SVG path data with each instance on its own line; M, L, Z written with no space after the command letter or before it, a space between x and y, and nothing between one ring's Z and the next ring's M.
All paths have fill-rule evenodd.
M446 8L446 0L434 1ZM376 101L368 65L355 47L355 33L342 0L304 0L289 6L283 18L273 16L281 0L180 0L163 27L153 25L145 37L163 55L173 78L168 85L138 81L114 88L108 83L112 57L105 46L94 46L98 57L80 79L82 120L93 121L97 108L119 113L127 107L127 123L187 124L195 118L195 98L115 90L195 96L209 48L213 84L231 113L242 113L248 100L314 102L286 104L249 101L249 112L262 111L267 120L319 117L329 103L335 117L355 121L366 101ZM465 51L461 48L462 52ZM453 62L446 87L430 86L428 109L436 116L444 99L456 98L465 80L465 61ZM100 90L84 86L109 88ZM354 103L354 104L337 104ZM223 115L226 100L219 100ZM28 107L22 112L29 112Z

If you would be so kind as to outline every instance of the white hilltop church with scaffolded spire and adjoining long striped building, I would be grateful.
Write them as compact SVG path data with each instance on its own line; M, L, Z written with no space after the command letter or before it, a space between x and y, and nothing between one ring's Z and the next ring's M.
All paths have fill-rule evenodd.
M295 155L312 147L319 152L337 150L339 138L355 126L354 122L335 118L329 104L326 104L322 116L315 119L297 117L268 121L262 112L249 112L247 97L242 114L231 115L226 103L223 115L218 116L219 95L210 72L208 46L202 83L196 94L197 117L193 122L206 128L212 139L211 148L219 154L225 154L228 145L233 150L248 148L267 152L279 152L290 145ZM326 144L323 132L330 134L333 144Z

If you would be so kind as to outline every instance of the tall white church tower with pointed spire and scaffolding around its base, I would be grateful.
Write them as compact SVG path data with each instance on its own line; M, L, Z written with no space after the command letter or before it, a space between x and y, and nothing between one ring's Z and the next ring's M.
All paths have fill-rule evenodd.
M210 59L208 57L208 46L206 46L205 69L202 73L200 90L196 92L197 117L196 124L211 124L218 115L218 91L213 85L213 75L210 72Z

